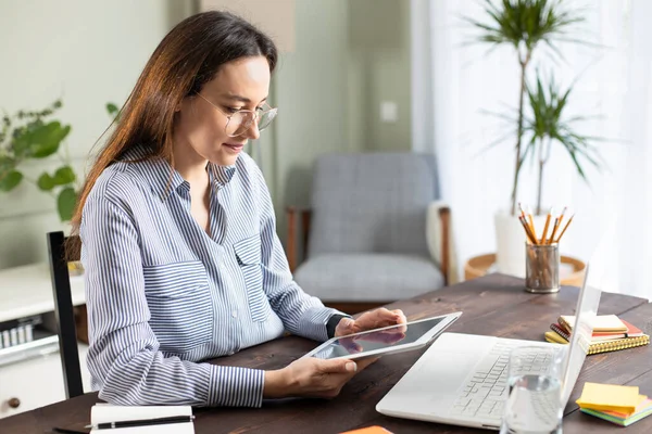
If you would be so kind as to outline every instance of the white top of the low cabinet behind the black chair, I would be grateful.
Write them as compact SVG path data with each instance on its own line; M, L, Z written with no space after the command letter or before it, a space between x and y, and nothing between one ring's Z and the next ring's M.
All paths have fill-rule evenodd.
M73 305L86 303L84 277L71 278ZM47 263L0 270L0 322L54 310Z

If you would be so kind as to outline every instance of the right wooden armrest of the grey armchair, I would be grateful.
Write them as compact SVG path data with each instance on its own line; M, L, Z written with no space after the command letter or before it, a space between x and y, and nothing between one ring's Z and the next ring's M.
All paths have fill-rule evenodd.
M446 284L459 281L452 233L451 209L441 202L432 202L428 206L426 239L430 256L436 264L439 264Z

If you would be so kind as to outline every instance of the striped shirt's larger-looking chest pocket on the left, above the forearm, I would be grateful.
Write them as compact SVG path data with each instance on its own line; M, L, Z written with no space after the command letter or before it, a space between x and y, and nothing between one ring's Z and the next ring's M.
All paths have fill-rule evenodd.
M150 327L161 350L184 354L211 341L213 304L206 270L200 261L143 268Z

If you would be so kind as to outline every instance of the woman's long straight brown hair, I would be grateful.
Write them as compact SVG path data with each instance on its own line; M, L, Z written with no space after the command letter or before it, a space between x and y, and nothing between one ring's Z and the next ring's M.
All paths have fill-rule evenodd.
M223 64L256 55L265 56L269 71L274 71L278 54L272 39L231 13L203 12L177 24L147 62L115 129L89 170L73 214L72 234L79 233L84 204L106 167L139 144L147 146L147 159L170 162L175 108L183 99L201 91ZM68 241L68 256L78 257L79 238Z

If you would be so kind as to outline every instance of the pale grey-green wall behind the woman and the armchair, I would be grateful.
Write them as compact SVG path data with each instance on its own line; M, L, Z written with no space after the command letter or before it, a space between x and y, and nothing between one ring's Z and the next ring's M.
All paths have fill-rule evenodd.
M104 104L124 102L158 42L192 13L195 3L1 1L0 108L9 113L41 108L63 98L59 118L73 127L66 142L83 174L86 155L109 125ZM280 54L271 90L279 115L247 150L265 173L284 242L285 207L310 203L317 155L406 150L410 142L409 15L403 13L408 4L400 9L401 29L392 33L400 43L389 48L388 41L374 41L375 18L365 13L374 7L355 0L294 3L291 51ZM351 29L361 33L352 38ZM365 47L356 44L356 38L369 35L364 44L373 56L359 59ZM380 124L380 100L398 102L397 124ZM32 164L26 171L36 178L43 169L57 167L54 159L45 164ZM0 269L46 259L45 232L65 228L54 209L54 199L34 186L0 193Z

